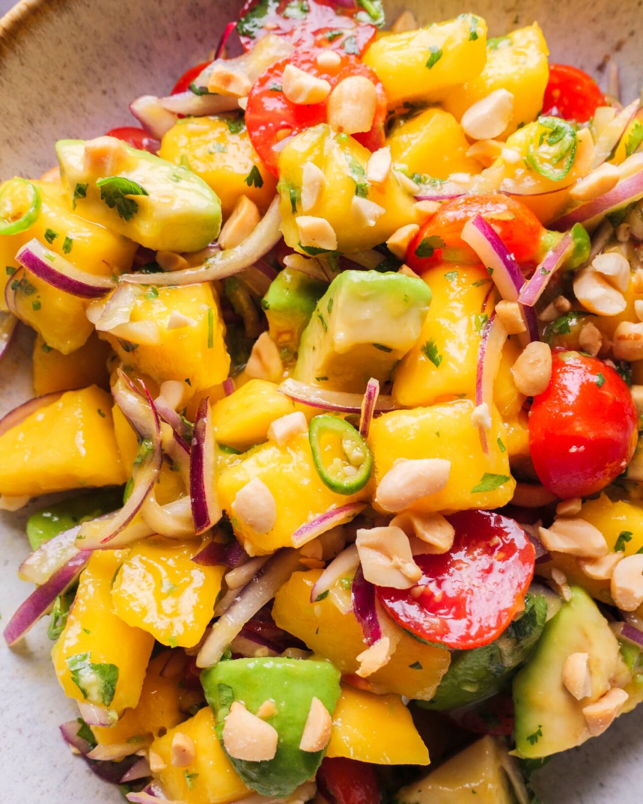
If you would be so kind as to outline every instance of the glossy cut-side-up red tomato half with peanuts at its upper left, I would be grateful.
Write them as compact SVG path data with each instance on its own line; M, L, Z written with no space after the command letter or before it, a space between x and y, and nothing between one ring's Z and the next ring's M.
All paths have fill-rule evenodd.
M494 511L461 511L447 519L456 529L453 548L415 556L420 596L388 587L378 587L377 595L414 636L468 650L493 642L522 610L534 548L518 523Z

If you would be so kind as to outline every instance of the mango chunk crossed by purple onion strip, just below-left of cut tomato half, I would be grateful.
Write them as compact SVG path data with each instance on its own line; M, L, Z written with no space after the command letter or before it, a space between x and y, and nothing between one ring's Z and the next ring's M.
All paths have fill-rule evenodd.
M343 591L338 585L324 600L310 602L319 576L318 569L294 572L276 593L272 617L277 626L301 639L310 650L330 659L342 674L352 674L359 667L358 654L366 650L362 630L353 613L342 613L334 604L334 593ZM362 683L370 684L378 694L430 700L450 661L448 650L425 645L403 633L391 661ZM418 663L421 669L416 670L413 666Z

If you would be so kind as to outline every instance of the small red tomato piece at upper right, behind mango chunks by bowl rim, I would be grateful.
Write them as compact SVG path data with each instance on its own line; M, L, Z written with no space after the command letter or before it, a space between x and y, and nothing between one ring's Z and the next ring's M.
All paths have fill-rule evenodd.
M603 92L592 76L569 64L549 65L543 115L586 123L594 117L596 106L604 105Z

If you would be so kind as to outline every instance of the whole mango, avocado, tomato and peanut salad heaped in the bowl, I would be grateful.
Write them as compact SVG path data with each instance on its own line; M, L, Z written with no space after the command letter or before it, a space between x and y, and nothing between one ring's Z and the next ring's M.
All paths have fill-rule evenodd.
M2 177L4 635L105 800L529 804L643 700L640 106L538 23L249 0Z

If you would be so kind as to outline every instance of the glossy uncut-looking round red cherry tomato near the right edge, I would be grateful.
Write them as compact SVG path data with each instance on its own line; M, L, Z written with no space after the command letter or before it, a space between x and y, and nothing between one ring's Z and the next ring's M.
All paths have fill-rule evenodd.
M555 352L551 382L529 414L540 482L561 499L596 494L632 459L637 425L636 405L616 371L580 352Z

